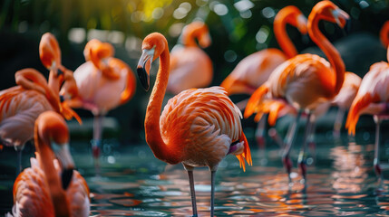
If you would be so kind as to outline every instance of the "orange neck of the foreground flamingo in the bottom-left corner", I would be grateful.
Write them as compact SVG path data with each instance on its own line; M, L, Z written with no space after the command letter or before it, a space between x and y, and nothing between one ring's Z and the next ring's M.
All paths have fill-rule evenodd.
M37 145L36 145L37 144ZM49 147L47 142L42 139L35 139L36 150L39 153L40 165L44 170L46 182L49 186L49 192L52 198L55 216L70 216L70 205L66 198L66 193L62 188L61 180L58 176L58 172L53 165L53 151Z

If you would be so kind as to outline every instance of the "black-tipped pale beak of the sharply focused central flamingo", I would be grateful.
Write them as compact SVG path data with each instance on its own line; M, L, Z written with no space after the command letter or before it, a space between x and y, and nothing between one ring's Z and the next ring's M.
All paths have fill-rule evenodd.
M139 80L141 80L141 85L146 91L150 88L150 69L153 58L154 48L150 50L143 49L143 52L141 53L141 58L138 62L138 67L136 69L136 71L138 72Z

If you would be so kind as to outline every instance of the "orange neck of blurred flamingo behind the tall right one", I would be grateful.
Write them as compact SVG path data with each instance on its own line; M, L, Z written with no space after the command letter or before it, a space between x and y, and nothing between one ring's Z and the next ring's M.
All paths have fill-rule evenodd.
M297 55L295 45L290 41L287 36L287 15L277 14L277 19L274 20L274 34L281 50L287 55L287 59L290 59Z

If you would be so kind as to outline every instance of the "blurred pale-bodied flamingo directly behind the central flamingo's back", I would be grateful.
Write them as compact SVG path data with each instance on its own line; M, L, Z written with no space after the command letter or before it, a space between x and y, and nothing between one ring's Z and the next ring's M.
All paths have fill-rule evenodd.
M181 33L183 47L176 47L170 55L170 77L167 91L174 95L182 90L208 87L213 77L212 61L199 49L210 45L208 26L195 21L184 27Z

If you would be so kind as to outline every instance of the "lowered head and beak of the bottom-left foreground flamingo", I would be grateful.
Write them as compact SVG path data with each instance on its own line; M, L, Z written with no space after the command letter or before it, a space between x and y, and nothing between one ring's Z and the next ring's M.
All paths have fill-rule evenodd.
M45 111L35 121L35 139L50 144L54 155L62 165L63 189L66 189L73 176L74 163L69 150L69 129L60 114Z

